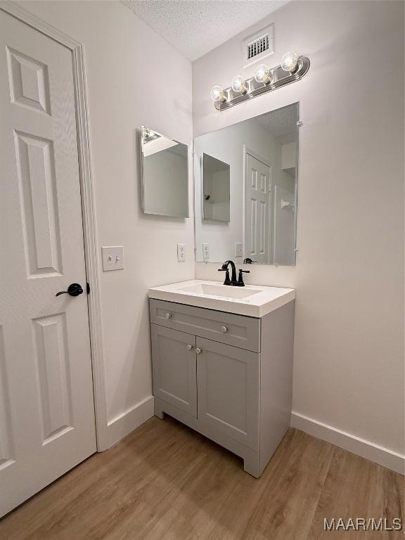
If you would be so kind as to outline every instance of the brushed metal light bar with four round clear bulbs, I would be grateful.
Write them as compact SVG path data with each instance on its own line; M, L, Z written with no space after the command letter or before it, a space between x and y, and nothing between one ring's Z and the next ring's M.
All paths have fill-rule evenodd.
M309 70L309 58L299 56L295 51L289 51L283 55L281 64L269 68L266 64L257 66L255 75L245 79L243 75L233 77L231 86L222 89L221 86L213 86L211 97L217 110L225 110L248 99L261 96L299 81Z

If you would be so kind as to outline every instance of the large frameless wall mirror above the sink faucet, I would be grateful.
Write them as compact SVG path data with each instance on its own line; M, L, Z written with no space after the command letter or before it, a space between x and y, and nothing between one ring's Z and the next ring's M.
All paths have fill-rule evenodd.
M298 120L294 103L195 139L198 262L250 258L257 264L295 264ZM230 167L228 221L214 221L206 213L204 155Z

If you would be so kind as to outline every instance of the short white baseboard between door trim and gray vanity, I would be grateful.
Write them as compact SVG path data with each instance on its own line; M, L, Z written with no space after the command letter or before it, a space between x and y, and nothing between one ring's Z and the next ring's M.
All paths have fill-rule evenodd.
M109 420L107 428L107 444L108 448L120 442L121 439L126 437L131 431L139 428L143 422L152 418L154 414L154 400L153 396L149 396L134 406L127 409L120 415Z

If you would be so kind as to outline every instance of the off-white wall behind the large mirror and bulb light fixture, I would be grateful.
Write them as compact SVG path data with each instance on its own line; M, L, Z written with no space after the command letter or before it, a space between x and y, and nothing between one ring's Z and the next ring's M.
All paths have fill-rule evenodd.
M254 70L241 36L227 41L193 63L194 136L300 101L297 266L255 266L247 281L297 288L293 409L305 425L404 454L404 4L297 1L246 33L273 22L266 61L300 51L309 73L219 113L210 87ZM196 274L217 279L217 264Z

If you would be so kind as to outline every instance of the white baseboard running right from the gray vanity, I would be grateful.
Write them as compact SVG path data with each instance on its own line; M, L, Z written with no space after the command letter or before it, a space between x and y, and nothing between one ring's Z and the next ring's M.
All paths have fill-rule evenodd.
M405 474L405 456L383 446L378 446L378 444L371 441L361 439L356 435L338 430L331 425L323 424L314 418L308 418L294 411L291 413L291 427L335 444L335 446L339 446L362 458L374 461L374 463L383 465L383 467L394 470L396 473Z

